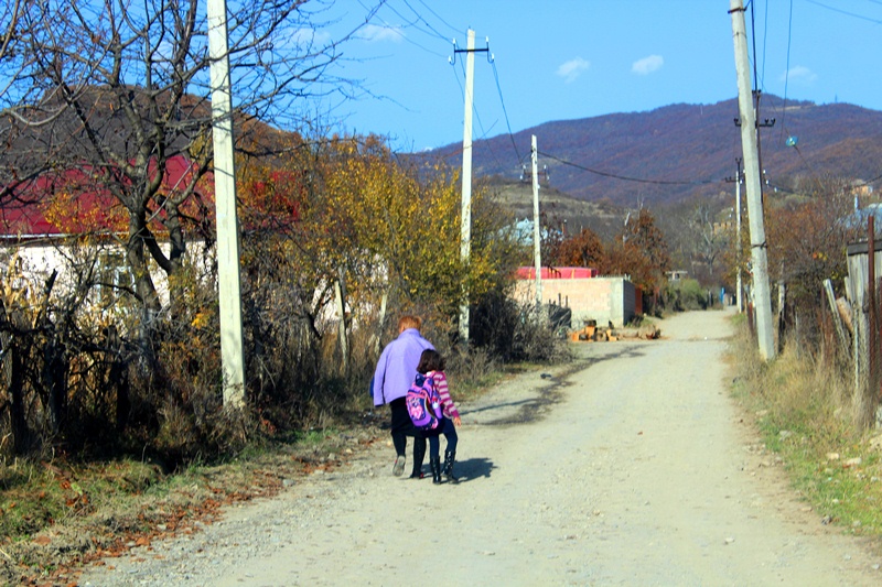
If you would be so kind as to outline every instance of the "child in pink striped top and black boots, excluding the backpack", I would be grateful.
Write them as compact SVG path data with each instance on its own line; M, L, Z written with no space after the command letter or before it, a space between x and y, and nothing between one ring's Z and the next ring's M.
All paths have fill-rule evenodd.
M460 420L460 411L456 410L456 404L450 398L450 388L448 385L448 378L444 374L445 361L444 358L434 349L426 349L420 356L420 363L417 367L417 372L430 380L440 403L440 418L437 427L426 431L426 437L429 439L429 467L432 470L432 482L441 482L441 474L450 482L459 482L459 479L453 475L453 463L456 459L456 444L459 436L454 426L462 425ZM417 376L419 378L419 376ZM440 442L439 435L443 434L448 441L447 448L444 449L444 465L441 466Z

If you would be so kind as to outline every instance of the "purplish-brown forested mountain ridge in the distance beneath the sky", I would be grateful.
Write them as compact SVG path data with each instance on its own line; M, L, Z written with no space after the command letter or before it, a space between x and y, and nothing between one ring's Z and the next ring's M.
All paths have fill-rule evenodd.
M768 185L799 191L828 176L871 184L882 177L878 110L762 95L757 119ZM727 178L735 176L742 156L738 120L732 98L546 122L474 141L473 170L475 176L516 182L529 170L535 134L547 184L578 199L633 208L731 194ZM459 165L461 152L454 143L430 154Z

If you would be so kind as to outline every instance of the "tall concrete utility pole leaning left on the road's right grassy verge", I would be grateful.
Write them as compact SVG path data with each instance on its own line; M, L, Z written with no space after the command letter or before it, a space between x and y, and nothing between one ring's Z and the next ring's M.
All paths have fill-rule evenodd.
M763 194L760 176L760 159L756 150L756 116L753 111L751 80L747 66L747 31L744 25L742 0L730 0L732 14L732 40L735 48L735 73L738 75L738 104L741 116L741 149L744 155L744 177L747 192L747 215L751 229L751 270L756 311L756 337L763 360L774 359L777 354L773 336L772 301L768 289L768 262L766 259L765 228L763 225Z

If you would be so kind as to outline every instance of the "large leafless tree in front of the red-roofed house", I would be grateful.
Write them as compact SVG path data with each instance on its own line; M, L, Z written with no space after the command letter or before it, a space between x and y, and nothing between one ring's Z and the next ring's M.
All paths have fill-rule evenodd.
M8 175L51 175L63 185L76 170L78 191L112 196L128 218L125 248L136 296L154 314L161 304L148 260L169 275L179 271L187 229L204 225L191 222L192 215L208 209L193 204L201 198L200 180L212 167L203 3L19 1L26 6L10 10L15 26L28 34L9 35L17 41L15 67L0 74L8 88L0 130L7 138ZM326 2L229 4L234 116L243 146L258 121L293 127L295 100L330 87L320 83L334 81L329 66L348 35L316 41L315 31L329 24L321 21ZM366 9L365 21L372 14ZM14 156L25 151L37 167L25 171ZM172 161L185 161L186 170L168 185ZM168 238L168 252L158 232Z

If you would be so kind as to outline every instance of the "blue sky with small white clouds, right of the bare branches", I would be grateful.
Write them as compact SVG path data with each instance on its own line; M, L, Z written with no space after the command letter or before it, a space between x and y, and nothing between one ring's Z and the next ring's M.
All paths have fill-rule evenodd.
M364 20L368 2L337 2L331 13L345 15L316 34ZM764 93L882 109L882 0L745 4ZM334 72L374 97L336 102L327 120L387 135L399 151L462 141L464 56L454 66L448 57L451 40L464 48L469 28L477 47L490 39L494 56L475 57L475 139L509 126L714 104L738 91L728 11L729 0L388 0Z

